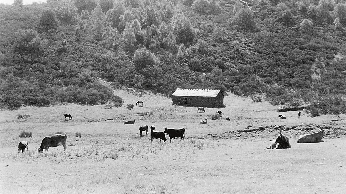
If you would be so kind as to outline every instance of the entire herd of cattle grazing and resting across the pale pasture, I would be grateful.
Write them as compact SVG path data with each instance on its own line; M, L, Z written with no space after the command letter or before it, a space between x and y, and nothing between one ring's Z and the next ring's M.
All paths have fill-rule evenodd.
M136 105L142 105L143 106L143 102L142 101L138 101L136 103ZM204 108L198 108L197 112L206 112L204 110ZM219 116L222 116L222 112L218 111ZM299 114L300 116L300 114ZM65 120L67 119L72 119L71 114L64 114ZM285 119L286 116L284 115L279 115L279 117L281 119ZM200 124L207 124L207 120L208 119L204 119L200 122ZM226 118L226 120L229 120L229 117ZM136 122L136 120L128 120L126 122L124 122L124 124L134 124ZM164 132L155 132L155 125L150 126L150 136L151 136L151 142L153 143L153 139L160 139L160 143L161 140L163 140L164 142L166 142L166 136L165 134L168 134L170 137L170 142L173 140L175 140L175 138L180 138L180 140L183 140L185 138L185 128L178 128L178 129L169 129L169 128L165 128ZM148 135L148 125L144 125L144 126L140 126L139 127L139 133L140 136L142 137L142 133L146 132L146 135ZM299 139L297 140L297 143L318 143L318 142L323 142L322 138L325 136L325 131L323 129L320 129L319 132L317 133L312 133L312 134L305 134L305 135L301 135L299 137ZM66 150L66 139L67 139L67 134L55 134L55 135L51 135L51 136L47 136L44 137L42 139L40 148L36 148L38 149L38 152L43 152L43 150L45 149L46 151L48 151L49 147L57 147L60 145L63 145L64 150ZM20 151L25 152L25 149L28 150L29 147L29 143L27 141L21 141L18 144L18 153ZM276 140L274 142L272 142L270 144L269 147L266 147L264 149L287 149L287 148L291 148L291 144L289 141L289 138L282 135L280 132L280 135L276 138Z

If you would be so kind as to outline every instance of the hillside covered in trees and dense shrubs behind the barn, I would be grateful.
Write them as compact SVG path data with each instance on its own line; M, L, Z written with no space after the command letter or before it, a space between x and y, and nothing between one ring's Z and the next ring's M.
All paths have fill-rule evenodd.
M346 112L346 1L248 1L1 5L1 104L121 105L99 77L168 95L209 88L307 103L316 116Z

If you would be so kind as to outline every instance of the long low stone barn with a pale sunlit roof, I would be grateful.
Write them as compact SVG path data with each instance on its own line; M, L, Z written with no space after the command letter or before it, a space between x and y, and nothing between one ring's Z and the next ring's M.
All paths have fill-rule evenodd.
M194 107L224 107L224 94L221 90L177 88L172 94L173 105Z

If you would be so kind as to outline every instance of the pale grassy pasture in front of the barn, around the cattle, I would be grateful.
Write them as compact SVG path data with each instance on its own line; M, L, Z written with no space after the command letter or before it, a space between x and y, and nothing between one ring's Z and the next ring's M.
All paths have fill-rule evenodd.
M75 104L21 107L0 111L0 193L343 193L346 189L345 115L301 117L286 112L280 119L267 102L225 97L222 109L173 106L152 93L115 90L125 105ZM126 109L143 101L143 107ZM220 120L211 116L222 110ZM152 115L137 116L153 111ZM64 120L64 114L73 119ZM17 119L18 114L30 117ZM229 117L230 121L225 118ZM199 124L208 119L207 124ZM124 121L136 119L133 125ZM184 127L185 139L169 143L139 126ZM310 128L325 127L324 143L297 144ZM264 130L257 130L263 126ZM296 126L295 128L287 126ZM253 130L251 130L253 129ZM291 149L267 149L279 132ZM18 137L21 132L32 137ZM38 153L42 138L67 133L67 149L51 147ZM315 132L315 131L313 131ZM80 133L81 137L76 137ZM144 133L145 134L145 133ZM29 149L18 154L18 143Z

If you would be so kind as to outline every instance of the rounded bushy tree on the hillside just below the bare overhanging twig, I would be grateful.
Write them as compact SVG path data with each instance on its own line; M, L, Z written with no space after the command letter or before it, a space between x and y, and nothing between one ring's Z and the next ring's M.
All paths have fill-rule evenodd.
M252 12L245 8L239 9L237 11L232 20L232 23L244 30L253 31L256 29L255 21L252 17Z

